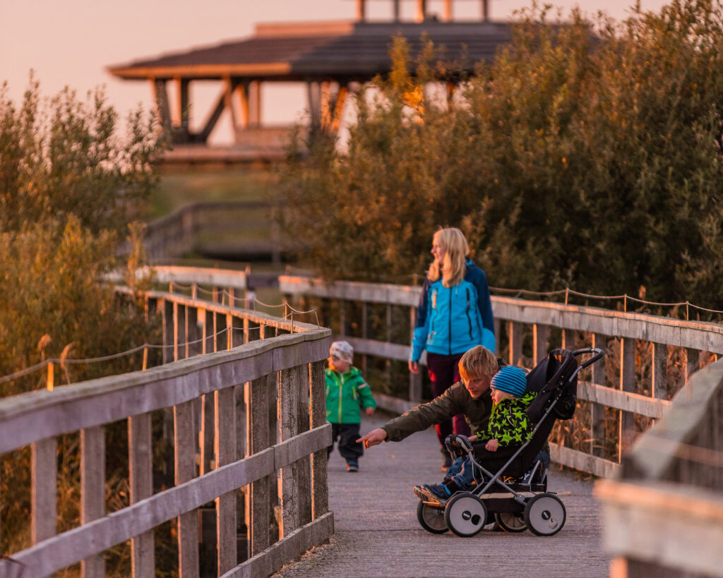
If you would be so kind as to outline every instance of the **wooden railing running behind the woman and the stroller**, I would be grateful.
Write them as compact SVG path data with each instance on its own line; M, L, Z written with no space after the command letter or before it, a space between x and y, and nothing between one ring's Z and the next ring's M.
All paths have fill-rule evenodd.
M397 361L408 359L408 344L420 288L361 282L326 283L288 276L279 277L279 286L289 298L320 300L322 324L335 331L335 338L343 337L354 345L356 353ZM344 304L350 302L361 307L360 323L351 324L346 319ZM328 319L324 319L324 303L330 304L326 309L334 305L335 311L338 311L338 322L335 324L329 324ZM366 318L372 306L384 306L388 320L393 319L393 309L403 311L396 317L408 319L405 342L392 342L389 338L369 339ZM608 345L612 345L606 363L596 363L591 370L586 370L589 373L581 376L578 386L578 400L586 402L586 407L578 409L576 414L578 429L585 434L583 447L571 449L569 444L552 444L555 462L604 477L615 473L620 456L638 435L636 428L641 426L636 421L641 419L636 420L636 416L650 421L662 418L669 410L669 347L677 348L684 360L683 379L698 370L701 352L705 353L706 360L715 359L716 355L723 353L723 326L719 324L505 297L492 297L492 309L496 324L496 353L504 355L508 363L532 367L552 348L591 346L608 350ZM359 329L351 331L352 326ZM390 327L387 330L389 335ZM642 392L643 388L636 382L638 341L651 344L649 363L652 375L647 392ZM617 355L612 355L612 350ZM525 351L526 356L523 355ZM607 373L614 374L613 378L606 377ZM377 397L381 407L401 412L422 400L422 387L418 379L411 377L408 396ZM608 450L606 456L604 446L611 444L614 444L615 450Z

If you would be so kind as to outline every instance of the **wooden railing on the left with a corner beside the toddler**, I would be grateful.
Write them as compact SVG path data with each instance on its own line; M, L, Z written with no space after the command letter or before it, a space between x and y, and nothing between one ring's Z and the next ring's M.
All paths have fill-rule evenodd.
M163 316L169 363L0 400L0 454L32 452L33 543L0 560L0 577L20 570L42 577L78 562L85 577L102 577L103 552L127 540L134 577L152 577L153 530L173 519L179 576L198 576L197 509L209 502L218 576L272 574L333 533L324 378L330 330L168 293L147 300L150 314ZM153 487L154 412L170 423L168 489ZM118 420L127 420L130 496L108 514L105 428ZM57 440L76 432L80 525L56 534ZM244 526L237 499L245 503L246 540L237 535ZM239 542L247 551L237 550Z

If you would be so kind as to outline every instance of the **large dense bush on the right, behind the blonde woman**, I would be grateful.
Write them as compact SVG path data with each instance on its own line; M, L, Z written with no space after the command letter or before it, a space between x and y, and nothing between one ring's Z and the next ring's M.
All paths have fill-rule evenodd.
M396 39L346 150L312 133L289 155L284 225L328 278L422 272L453 225L497 287L720 309L722 51L716 0L621 24L533 7L450 100L427 81L460 65L427 46L413 66Z

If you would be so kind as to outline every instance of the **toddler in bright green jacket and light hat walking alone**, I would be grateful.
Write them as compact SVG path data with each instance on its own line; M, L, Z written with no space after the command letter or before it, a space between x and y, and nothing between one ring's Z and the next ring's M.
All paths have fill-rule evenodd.
M326 419L331 423L332 443L328 455L338 439L341 457L346 460L346 471L359 471L359 458L364 447L359 437L361 407L367 415L374 413L377 402L361 371L353 367L354 348L346 341L335 341L329 348L329 368L326 370Z

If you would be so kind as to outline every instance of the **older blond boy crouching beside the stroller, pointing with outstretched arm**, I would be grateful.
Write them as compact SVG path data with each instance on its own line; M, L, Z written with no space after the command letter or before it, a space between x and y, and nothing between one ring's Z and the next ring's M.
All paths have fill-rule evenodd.
M487 431L492 411L489 381L498 368L497 358L491 351L482 345L471 348L459 361L461 381L431 402L417 405L357 441L366 448L382 441L401 441L415 431L423 431L460 413L465 416L471 431Z

